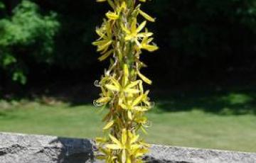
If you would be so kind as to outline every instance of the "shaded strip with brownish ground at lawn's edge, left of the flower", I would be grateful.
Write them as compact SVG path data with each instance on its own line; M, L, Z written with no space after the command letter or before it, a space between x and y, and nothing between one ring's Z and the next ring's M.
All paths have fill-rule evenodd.
M32 89L22 94L11 92L1 95L0 111L14 107L20 108L30 103L39 103L46 106L56 106L59 103L68 103L70 106L92 105L92 101L100 94L100 89L82 84L65 88L63 86L52 87Z

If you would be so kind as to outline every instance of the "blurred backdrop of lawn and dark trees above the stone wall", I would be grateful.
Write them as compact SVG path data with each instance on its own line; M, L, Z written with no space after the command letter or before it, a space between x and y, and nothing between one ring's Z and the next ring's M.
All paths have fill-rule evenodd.
M0 130L95 137L92 100L109 62L92 41L110 8L94 0L0 0ZM160 49L148 141L256 151L256 1L153 0L142 7ZM160 133L160 134L159 134Z

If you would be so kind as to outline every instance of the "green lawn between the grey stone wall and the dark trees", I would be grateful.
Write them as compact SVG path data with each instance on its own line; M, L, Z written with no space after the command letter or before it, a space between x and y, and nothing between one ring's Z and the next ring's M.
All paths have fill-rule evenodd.
M148 113L152 126L147 140L166 145L255 152L256 116L251 113L254 106L252 99L244 96L245 100L241 100L242 95L239 96L219 96L225 104L218 106L223 107L219 111L213 106L217 102L213 101L215 96L204 96L205 103L198 97L157 100L154 111ZM252 108L250 113L233 113L232 107L241 103ZM103 115L90 105L1 101L0 106L0 131L61 137L102 135ZM212 107L214 111L206 109Z

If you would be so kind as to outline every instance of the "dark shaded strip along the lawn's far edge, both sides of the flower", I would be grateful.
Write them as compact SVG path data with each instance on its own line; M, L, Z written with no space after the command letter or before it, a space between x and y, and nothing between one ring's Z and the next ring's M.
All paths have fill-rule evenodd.
M256 88L247 86L242 89L227 88L225 91L191 89L191 91L153 90L151 97L156 101L156 113L201 110L219 115L256 115ZM27 103L36 102L42 105L55 106L58 103L68 103L69 106L92 105L97 99L100 89L91 85L74 85L70 87L56 87L50 91L30 91L25 96L6 96L0 101L1 108L11 106L26 106ZM158 92L158 93L157 93ZM25 97L25 98L24 98ZM25 99L25 100L24 100ZM18 103L18 104L17 104ZM11 106L9 106L11 105ZM72 108L72 107L70 107ZM1 115L0 117L5 116Z

